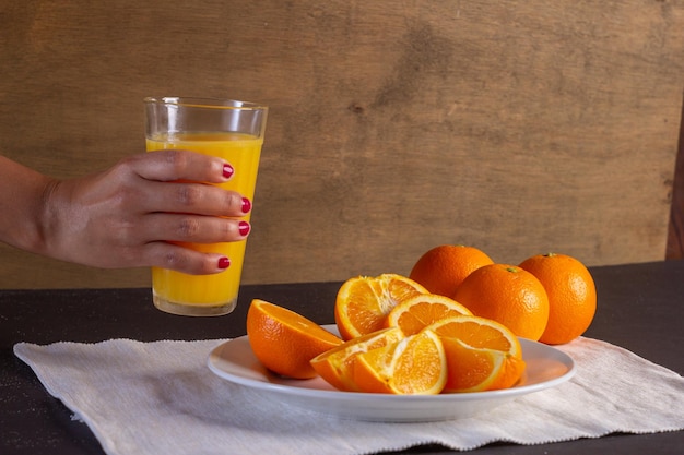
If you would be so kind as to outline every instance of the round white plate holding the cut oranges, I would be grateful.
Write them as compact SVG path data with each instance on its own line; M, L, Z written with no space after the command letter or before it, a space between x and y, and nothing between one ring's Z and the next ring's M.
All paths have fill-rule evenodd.
M326 325L337 333L334 325ZM440 395L385 395L340 392L321 378L293 380L269 372L255 357L247 336L226 342L209 355L216 375L259 391L270 399L341 418L384 422L428 422L472 417L522 395L568 381L573 359L541 343L520 339L527 362L521 380L511 388Z

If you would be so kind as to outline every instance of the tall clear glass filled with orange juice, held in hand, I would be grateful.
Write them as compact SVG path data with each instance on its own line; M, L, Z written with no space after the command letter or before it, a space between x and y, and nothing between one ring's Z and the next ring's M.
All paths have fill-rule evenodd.
M250 201L268 107L247 101L209 98L145 98L148 152L178 148L220 156L235 168L226 190ZM249 220L247 214L243 219ZM187 247L229 258L231 266L215 275L188 275L152 267L152 296L160 310L182 315L227 314L237 304L246 240Z

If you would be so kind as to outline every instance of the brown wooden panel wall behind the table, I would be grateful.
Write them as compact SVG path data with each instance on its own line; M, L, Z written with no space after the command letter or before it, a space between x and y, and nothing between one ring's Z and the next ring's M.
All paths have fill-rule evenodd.
M56 177L142 152L145 96L271 107L246 283L665 256L684 1L1 0L0 27L0 153ZM0 248L1 288L148 285Z

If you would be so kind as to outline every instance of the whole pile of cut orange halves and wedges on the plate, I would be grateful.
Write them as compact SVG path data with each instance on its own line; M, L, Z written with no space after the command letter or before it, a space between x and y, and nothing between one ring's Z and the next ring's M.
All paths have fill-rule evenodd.
M347 336L359 333L346 342L294 311L255 299L247 314L251 349L278 374L319 374L349 392L480 392L507 388L520 380L526 363L510 330L468 314L452 299L423 294L417 286L398 275L351 280L335 306L338 327L346 327ZM363 311L356 307L364 304L375 309L369 311L374 315L358 320Z

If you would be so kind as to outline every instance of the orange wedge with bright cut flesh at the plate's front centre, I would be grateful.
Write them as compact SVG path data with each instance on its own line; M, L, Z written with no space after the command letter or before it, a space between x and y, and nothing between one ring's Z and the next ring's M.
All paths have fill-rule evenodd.
M428 330L359 354L354 368L354 382L362 392L434 395L446 380L444 347Z

